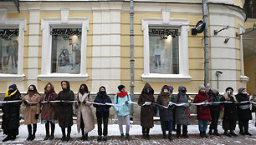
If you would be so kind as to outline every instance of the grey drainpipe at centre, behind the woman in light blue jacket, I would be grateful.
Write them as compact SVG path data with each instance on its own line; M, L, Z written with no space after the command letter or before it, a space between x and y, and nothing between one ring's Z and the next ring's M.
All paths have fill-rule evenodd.
M134 23L134 13L133 13L133 9L134 9L134 3L133 0L130 0L130 42L131 42L131 101L134 101L134 27L133 27L133 23ZM133 116L133 112L134 112L134 105L131 105L131 118Z

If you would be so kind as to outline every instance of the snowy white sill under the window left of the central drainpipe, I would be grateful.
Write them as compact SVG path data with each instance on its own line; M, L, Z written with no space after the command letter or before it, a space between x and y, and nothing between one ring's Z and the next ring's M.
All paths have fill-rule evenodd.
M69 73L51 73L48 75L40 74L38 75L38 79L40 81L87 81L88 74L69 74Z

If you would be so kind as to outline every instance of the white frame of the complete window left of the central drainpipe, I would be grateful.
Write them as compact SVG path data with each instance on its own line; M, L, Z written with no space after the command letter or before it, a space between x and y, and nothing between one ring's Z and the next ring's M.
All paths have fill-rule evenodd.
M69 16L69 13L66 14ZM52 36L50 29L53 28L82 28L81 37L81 63L80 73L52 73L51 72L51 55L52 55ZM86 73L86 46L87 30L89 30L89 18L43 18L41 21L43 31L42 42L42 67L38 79L41 81L87 81Z

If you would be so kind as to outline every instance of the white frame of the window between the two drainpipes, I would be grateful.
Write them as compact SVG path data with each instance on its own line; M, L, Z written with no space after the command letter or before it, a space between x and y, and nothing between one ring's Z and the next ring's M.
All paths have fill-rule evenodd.
M178 28L179 44L179 74L150 73L150 47L149 47L149 27L164 26ZM141 75L144 82L189 82L188 64L188 19L161 19L161 18L142 18L142 31L144 37L144 73Z

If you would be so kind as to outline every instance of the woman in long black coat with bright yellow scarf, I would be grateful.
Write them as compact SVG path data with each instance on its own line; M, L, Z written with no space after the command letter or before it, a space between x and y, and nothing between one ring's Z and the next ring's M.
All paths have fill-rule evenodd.
M3 134L8 135L3 139L3 142L9 140L14 140L18 135L19 127L19 108L21 105L21 94L18 91L16 84L9 86L8 90L5 93L3 101L20 101L20 102L8 102L2 104L3 111L3 122L2 129Z

